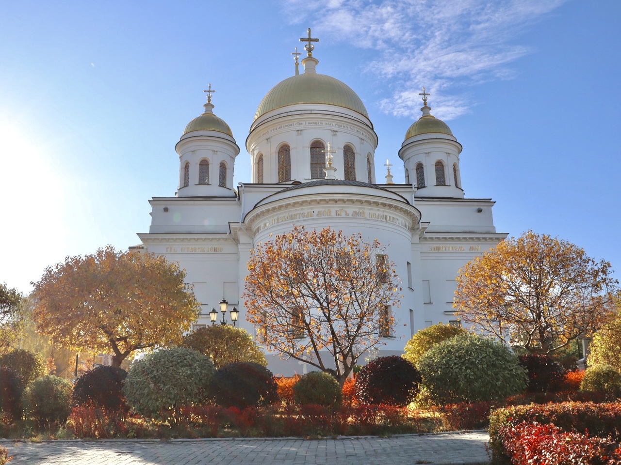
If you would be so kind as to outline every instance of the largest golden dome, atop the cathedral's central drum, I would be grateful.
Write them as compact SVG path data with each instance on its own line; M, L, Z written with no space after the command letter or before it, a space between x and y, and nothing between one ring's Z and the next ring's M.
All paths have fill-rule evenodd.
M314 58L305 58L315 60ZM302 64L304 64L302 61ZM313 63L309 63L313 64ZM255 113L255 121L265 113L295 104L327 104L337 107L349 108L360 113L366 118L365 104L362 103L356 92L347 84L325 74L315 73L314 66L306 66L306 71L297 76L291 76L272 87L271 91L263 97L259 108ZM309 72L310 71L310 72Z

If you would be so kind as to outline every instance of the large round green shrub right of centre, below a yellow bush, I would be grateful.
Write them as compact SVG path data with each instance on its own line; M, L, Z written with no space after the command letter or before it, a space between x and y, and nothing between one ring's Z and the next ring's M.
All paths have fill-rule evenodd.
M442 404L499 401L523 392L528 381L509 348L476 334L440 342L418 367L433 401Z

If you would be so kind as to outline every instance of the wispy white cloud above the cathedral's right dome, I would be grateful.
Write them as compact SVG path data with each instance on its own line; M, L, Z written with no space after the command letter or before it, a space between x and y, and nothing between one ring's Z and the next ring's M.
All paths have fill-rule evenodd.
M366 71L391 85L384 112L417 117L426 86L433 113L450 120L474 103L469 86L514 76L510 63L532 50L511 40L568 0L283 1L314 35L373 51Z

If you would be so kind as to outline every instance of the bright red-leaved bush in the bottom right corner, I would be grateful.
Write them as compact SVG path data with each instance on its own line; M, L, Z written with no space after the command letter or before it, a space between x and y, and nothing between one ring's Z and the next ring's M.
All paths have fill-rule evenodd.
M506 425L498 437L513 465L621 464L621 448L609 438L564 432L551 424Z

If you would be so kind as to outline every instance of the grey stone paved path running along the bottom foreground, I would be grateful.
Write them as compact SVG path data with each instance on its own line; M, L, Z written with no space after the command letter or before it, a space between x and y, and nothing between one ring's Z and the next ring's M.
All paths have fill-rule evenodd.
M484 432L325 440L207 439L173 441L45 441L0 444L11 465L414 465L489 463Z

